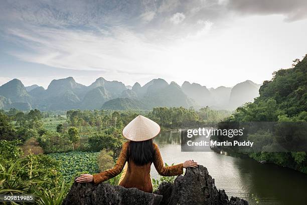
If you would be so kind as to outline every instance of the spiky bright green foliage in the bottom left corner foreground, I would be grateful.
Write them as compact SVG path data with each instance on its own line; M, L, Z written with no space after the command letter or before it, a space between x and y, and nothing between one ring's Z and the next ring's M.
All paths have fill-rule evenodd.
M63 181L62 186L58 187L58 174L55 171L50 172L54 178L48 178L50 170L44 169L46 167L42 167L43 172L34 174L34 163L37 161L32 157L33 155L29 156L28 159L19 159L9 168L0 164L0 194L34 194L36 204L61 204L69 186ZM41 164L45 159L37 164ZM50 160L45 163L48 162ZM23 166L20 166L20 164L23 164Z

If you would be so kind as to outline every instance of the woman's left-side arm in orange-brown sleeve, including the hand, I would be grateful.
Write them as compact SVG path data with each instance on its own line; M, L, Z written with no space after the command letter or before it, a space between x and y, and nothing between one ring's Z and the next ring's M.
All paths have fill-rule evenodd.
M121 170L123 169L126 161L127 161L127 151L128 151L128 142L125 142L122 146L121 152L119 154L119 157L117 159L116 164L112 169L105 170L103 172L100 172L98 174L81 174L76 179L76 182L91 182L93 181L95 184L106 181L110 178L113 178L117 176Z

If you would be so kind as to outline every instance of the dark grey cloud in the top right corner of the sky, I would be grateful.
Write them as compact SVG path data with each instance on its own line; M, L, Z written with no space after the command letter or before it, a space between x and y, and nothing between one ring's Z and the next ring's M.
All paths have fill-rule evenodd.
M285 21L307 18L306 0L228 0L227 8L244 15L281 14Z

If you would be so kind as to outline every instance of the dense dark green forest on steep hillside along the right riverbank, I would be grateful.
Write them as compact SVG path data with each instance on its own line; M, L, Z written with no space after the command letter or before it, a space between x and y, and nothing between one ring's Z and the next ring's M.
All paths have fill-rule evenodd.
M301 61L295 59L292 68L274 72L272 80L263 82L259 93L254 102L237 108L226 121L307 122L307 55ZM271 138L263 130L248 136L248 140L258 141L266 147L273 143ZM273 162L307 173L306 152L262 151L246 154L259 161Z

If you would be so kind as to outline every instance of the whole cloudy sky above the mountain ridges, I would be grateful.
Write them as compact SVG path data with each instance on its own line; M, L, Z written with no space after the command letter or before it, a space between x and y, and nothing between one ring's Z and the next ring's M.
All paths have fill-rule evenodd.
M261 84L307 53L306 36L305 0L2 0L0 85Z

